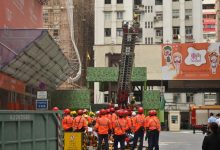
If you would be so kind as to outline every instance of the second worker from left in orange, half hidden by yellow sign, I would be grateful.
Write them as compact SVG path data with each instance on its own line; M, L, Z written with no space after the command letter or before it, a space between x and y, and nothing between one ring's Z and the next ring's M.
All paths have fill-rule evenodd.
M83 117L83 110L77 111L78 116L73 120L73 130L74 132L84 132L88 131L87 120Z

